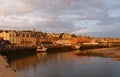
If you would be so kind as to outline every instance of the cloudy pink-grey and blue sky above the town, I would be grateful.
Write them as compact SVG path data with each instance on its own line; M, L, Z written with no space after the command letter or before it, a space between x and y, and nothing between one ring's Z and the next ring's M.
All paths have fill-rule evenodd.
M0 29L120 37L120 0L0 0Z

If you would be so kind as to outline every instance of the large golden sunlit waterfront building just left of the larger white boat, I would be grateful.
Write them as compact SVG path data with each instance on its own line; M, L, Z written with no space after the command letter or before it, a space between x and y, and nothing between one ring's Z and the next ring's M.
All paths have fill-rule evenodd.
M36 46L35 33L31 31L16 32L16 44L19 46Z

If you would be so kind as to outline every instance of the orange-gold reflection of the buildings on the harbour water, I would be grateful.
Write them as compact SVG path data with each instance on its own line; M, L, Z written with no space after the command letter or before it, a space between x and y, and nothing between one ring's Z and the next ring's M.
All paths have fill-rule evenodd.
M65 52L65 53L55 53L55 54L47 54L46 52L44 53L36 53L30 56L24 56L18 59L13 59L9 61L9 64L11 66L14 66L15 69L21 70L21 69L27 69L32 66L40 65L40 64L45 64L47 62L52 62L52 63L69 63L71 60L77 60L82 59L82 58L89 58L88 56L77 56L74 55L76 51L70 51L70 52ZM79 51L78 51L79 52ZM13 58L13 57L12 57ZM14 57L16 58L16 57ZM10 59L10 58L9 58ZM8 59L8 60L9 60Z

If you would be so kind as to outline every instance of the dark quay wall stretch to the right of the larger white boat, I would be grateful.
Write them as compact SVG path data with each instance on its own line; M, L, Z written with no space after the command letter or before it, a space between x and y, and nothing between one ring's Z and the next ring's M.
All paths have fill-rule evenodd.
M81 45L79 50L88 50L88 49L97 49L97 48L110 48L110 47L119 47L119 44L97 44L97 45ZM72 46L50 46L48 47L47 52L64 52L64 51L72 51Z

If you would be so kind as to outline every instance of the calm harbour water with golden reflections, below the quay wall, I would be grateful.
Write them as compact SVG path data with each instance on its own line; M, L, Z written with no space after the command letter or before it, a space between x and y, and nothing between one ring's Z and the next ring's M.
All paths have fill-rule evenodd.
M9 63L19 77L120 77L120 61L75 52L36 53Z

